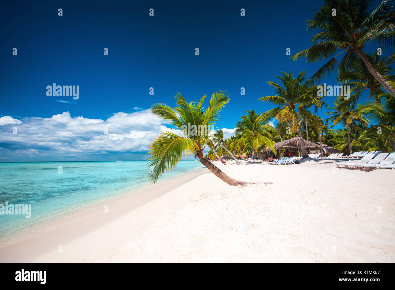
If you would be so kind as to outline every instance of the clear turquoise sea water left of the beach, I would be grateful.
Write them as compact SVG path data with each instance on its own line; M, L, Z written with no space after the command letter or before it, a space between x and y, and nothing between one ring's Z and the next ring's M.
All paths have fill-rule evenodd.
M62 173L59 173L59 167ZM180 161L160 180L204 168ZM31 204L32 216L0 214L0 238L70 208L149 184L147 161L0 163L0 204Z

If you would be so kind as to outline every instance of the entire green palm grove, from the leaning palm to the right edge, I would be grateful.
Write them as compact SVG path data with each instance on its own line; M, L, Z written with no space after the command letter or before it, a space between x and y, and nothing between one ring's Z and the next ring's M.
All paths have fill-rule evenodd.
M252 159L262 162L269 155L282 155L275 149L277 142L295 137L300 140L295 153L302 159L308 158L305 140L320 144L316 151L322 155L322 144L344 155L393 152L395 52L381 55L366 49L368 44L376 43L380 48L393 51L395 9L391 1L383 0L372 7L368 0L327 0L307 21L307 29L314 32L312 44L292 55L290 60L325 61L318 71L310 76L307 71L282 71L273 80L267 80L273 95L259 100L272 104L273 109L246 110L230 138L224 138L222 129L196 135L162 133L150 146L149 166L153 168L150 180L156 182L165 170L174 168L182 157L192 154L228 184L242 185L243 181L230 178L210 161L226 165L222 158L226 156L236 163ZM327 92L320 92L322 80L329 75L335 75L340 86L349 88L347 94L340 92L332 102L324 100ZM365 93L368 100L360 101ZM179 129L188 123L203 127L215 125L221 109L229 102L229 94L214 92L207 109L203 109L204 99L205 96L199 101L187 102L177 93L177 107L155 104L151 110ZM328 111L320 114L323 107Z

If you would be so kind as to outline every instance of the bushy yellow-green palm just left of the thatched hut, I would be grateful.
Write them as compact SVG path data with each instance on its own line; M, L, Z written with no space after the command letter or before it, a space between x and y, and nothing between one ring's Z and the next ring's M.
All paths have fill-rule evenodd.
M273 151L275 150L273 135L269 133L272 127L265 125L267 118L263 114L258 115L254 110L246 111L246 113L248 114L241 116L241 121L237 122L235 133L241 134L244 141L249 140L254 153L258 153L263 160L260 148L269 146Z

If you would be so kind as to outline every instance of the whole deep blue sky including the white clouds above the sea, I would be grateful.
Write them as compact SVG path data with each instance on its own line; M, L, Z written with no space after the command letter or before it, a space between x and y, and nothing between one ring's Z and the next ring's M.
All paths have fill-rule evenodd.
M258 101L273 95L268 80L281 71L310 76L323 64L286 55L310 45L306 21L322 1L2 5L0 161L143 159L164 125L146 111L153 103L173 106L176 92L197 99L227 90L230 103L217 126L232 129L246 110L273 107ZM334 75L324 81L336 85ZM79 99L48 97L53 83L79 85ZM117 141L100 140L106 126Z

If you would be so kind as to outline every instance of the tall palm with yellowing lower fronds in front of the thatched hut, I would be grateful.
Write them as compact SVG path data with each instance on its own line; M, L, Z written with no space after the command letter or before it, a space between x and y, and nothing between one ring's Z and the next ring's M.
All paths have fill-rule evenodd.
M305 75L306 72L302 71L295 78L291 72L282 72L282 76L276 76L277 79L281 80L282 85L272 81L267 82L274 89L276 95L261 97L259 99L262 102L268 101L279 106L264 114L267 117L274 116L280 125L287 124L291 134L295 132L299 133L303 158L308 157L308 154L301 131L301 115L303 114L305 117L310 116L313 118L314 116L311 116L312 113L305 108L319 103L317 87L302 84L306 80Z

